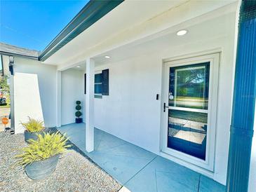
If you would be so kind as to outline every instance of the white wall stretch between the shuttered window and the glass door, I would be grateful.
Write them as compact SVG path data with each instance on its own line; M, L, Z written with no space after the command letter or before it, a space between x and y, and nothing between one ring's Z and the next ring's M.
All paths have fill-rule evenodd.
M105 67L109 96L95 99L95 127L159 153L161 59L144 55Z

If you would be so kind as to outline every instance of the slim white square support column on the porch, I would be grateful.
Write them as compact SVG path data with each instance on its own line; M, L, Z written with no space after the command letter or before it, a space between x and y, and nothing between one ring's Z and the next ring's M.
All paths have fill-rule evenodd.
M95 63L86 60L86 151L94 150L94 72Z

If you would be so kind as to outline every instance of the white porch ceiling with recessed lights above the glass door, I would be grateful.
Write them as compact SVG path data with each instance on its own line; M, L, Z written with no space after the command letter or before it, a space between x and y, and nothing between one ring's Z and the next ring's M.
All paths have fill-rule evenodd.
M93 57L93 60L95 60L95 67L96 69L101 69L101 66L104 64L117 63L122 60L128 60L130 57L154 55L155 53L161 55L161 59L165 59L166 55L170 55L170 53L165 53L166 50L170 50L170 47L175 49L179 46L185 47L191 43L204 43L205 39L212 39L214 41L214 39L229 36L230 34L227 32L230 32L230 25L228 24L235 20L234 14L230 15L229 13L232 10L235 11L235 9L235 5L229 6L229 11L227 11L227 7L225 7L219 11L203 15L204 20L201 20L201 18L194 18L170 29L166 29L161 33L154 34L154 36L149 36L134 41L133 43L128 43L124 46L106 51L100 55L96 55ZM223 13L225 13L225 15L223 15ZM215 16L212 17L212 15ZM176 32L179 29L187 29L188 33L185 36L177 36ZM201 38L198 38L199 36ZM214 47L214 45L211 46ZM201 50L194 48L194 51ZM184 55L184 53L177 53L177 55L179 54ZM105 58L105 55L109 55L110 58ZM78 65L79 68L76 67ZM85 64L77 63L73 66L73 69L85 71L86 67Z

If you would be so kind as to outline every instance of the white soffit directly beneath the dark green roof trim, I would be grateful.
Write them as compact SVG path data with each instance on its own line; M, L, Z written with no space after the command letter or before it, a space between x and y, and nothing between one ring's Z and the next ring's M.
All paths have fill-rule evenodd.
M45 63L58 64L65 62L67 57L80 55L88 48L105 41L109 36L128 29L134 25L144 22L163 11L184 3L186 0L175 1L124 1L122 4L107 13L103 18L95 22L84 32L76 36L75 39L67 43L66 46L58 50L57 53L49 57ZM66 55L63 58L62 55Z

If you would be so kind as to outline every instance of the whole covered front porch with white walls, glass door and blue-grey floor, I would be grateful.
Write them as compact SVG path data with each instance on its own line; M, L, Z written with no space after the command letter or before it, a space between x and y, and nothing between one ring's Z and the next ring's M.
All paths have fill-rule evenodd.
M79 49L71 44L47 61L58 61L56 127L130 191L224 191L227 184L237 3L180 20L192 6L135 26L158 26L163 16L159 32L99 39L91 52L81 43L90 36L80 36L84 54L72 54ZM70 124L76 101L86 124Z

